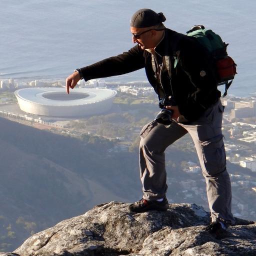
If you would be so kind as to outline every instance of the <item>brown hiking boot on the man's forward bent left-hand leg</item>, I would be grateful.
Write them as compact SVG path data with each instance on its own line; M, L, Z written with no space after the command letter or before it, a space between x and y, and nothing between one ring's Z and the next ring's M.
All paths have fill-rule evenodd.
M164 197L161 202L157 200L140 199L129 205L129 210L134 212L144 212L147 210L166 210L168 209L167 198Z

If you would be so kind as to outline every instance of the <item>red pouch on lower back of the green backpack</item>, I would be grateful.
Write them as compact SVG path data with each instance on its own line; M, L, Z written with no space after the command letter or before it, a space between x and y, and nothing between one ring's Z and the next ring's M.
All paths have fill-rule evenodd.
M236 64L229 56L216 60L216 68L219 82L231 80L236 74Z

